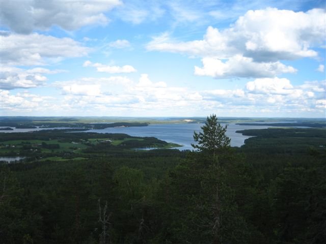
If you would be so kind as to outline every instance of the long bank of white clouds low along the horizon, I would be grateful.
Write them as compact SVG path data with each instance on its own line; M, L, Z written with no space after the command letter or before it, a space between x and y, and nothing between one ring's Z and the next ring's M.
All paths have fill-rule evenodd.
M262 116L279 114L324 114L324 81L294 86L285 78L255 79L235 89L193 90L152 81L142 74L137 82L121 76L85 77L53 84L61 90L60 99L28 92L10 95L1 91L5 114L28 114L41 111L48 115L125 115L132 116L203 116L212 112L220 116ZM309 110L309 111L308 111ZM269 111L269 112L268 112ZM270 111L273 111L270 112ZM35 112L36 113L36 112Z

